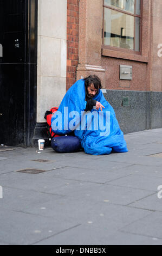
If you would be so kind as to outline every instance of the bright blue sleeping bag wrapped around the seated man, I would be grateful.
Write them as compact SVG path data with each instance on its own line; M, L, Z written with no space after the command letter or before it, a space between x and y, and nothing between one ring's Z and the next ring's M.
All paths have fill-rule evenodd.
M105 100L102 91L93 97L105 108L85 112L85 81L79 80L64 95L57 112L51 119L53 132L66 135L72 131L80 139L85 153L105 155L127 152L124 134L120 130L113 107Z

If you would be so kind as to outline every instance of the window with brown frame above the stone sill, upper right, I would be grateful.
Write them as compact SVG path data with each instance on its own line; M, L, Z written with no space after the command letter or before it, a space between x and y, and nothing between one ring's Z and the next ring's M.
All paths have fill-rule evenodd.
M140 51L140 0L104 0L103 44Z

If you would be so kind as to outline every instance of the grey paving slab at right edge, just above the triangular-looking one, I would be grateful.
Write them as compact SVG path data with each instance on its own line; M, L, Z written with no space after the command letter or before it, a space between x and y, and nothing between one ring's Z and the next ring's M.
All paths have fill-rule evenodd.
M153 175L139 175L136 173L124 178L119 178L118 180L109 181L107 184L157 191L157 187L162 184L162 178Z

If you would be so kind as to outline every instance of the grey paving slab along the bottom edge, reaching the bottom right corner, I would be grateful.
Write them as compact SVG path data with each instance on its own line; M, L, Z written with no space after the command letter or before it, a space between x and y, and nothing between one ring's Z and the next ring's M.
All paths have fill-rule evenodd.
M162 240L155 237L109 231L82 224L61 234L44 239L35 245L161 245Z

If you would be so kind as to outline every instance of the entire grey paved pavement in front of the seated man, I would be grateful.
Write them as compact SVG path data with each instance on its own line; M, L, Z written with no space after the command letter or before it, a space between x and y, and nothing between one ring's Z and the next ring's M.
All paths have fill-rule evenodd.
M125 140L103 156L1 146L0 245L162 245L162 129Z

